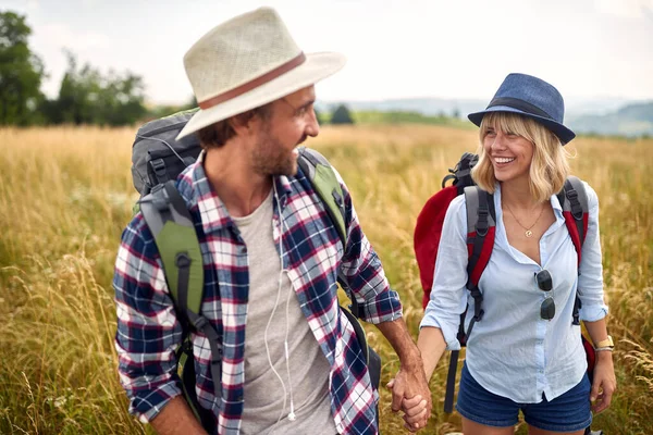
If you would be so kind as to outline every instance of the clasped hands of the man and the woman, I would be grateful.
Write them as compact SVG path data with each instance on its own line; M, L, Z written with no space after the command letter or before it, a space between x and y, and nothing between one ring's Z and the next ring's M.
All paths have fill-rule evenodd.
M402 369L387 383L392 391L392 410L404 412L404 427L417 432L426 427L431 417L431 391L421 364L415 369Z

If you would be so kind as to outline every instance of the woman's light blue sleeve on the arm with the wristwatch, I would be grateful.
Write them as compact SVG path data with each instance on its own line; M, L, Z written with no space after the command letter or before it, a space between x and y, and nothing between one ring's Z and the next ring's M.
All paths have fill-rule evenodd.
M582 246L578 295L581 301L580 319L595 322L607 315L603 299L603 265L599 232L599 197L594 189L584 183L588 196L588 234Z

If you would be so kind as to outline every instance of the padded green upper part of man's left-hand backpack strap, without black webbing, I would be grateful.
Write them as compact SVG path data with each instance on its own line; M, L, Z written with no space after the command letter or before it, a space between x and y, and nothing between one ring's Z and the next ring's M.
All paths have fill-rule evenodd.
M183 316L188 311L199 314L204 266L195 225L174 182L159 186L139 201L140 211L155 237L174 303Z

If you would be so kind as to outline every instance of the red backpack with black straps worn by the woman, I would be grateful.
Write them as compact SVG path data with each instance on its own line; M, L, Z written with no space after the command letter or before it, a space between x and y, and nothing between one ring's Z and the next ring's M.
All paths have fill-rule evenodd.
M442 181L442 189L433 195L424 204L422 211L417 217L415 226L414 247L419 266L419 276L423 288L422 307L426 309L431 296L433 286L433 275L435 272L435 259L438 257L438 247L442 234L442 225L449 202L458 195L465 195L467 209L467 289L475 299L473 318L467 331L465 331L465 318L467 310L460 314L460 325L458 327L457 338L460 346L467 344L467 337L476 322L483 318L483 294L478 284L481 278L494 247L495 211L492 194L481 190L471 178L471 169L478 162L478 156L466 152L449 175ZM445 186L452 179L453 184ZM563 206L563 215L571 241L578 253L578 264L582 252L582 244L588 232L589 206L588 197L582 182L569 176L565 182L565 187L557 195ZM580 299L576 295L574 304L572 323L579 325ZM582 334L581 334L582 336ZM594 368L595 355L592 345L582 336L582 344L588 357L588 375L592 380L592 370ZM456 385L456 371L458 363L458 350L451 352L449 369L446 381L446 394L444 399L444 411L452 412L454 403L454 388Z

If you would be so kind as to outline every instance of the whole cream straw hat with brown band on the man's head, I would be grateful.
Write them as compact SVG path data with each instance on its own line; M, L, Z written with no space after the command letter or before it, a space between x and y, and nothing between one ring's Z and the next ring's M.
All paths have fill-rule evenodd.
M340 53L305 54L271 8L236 16L184 55L200 110L176 138L313 85L344 64Z

